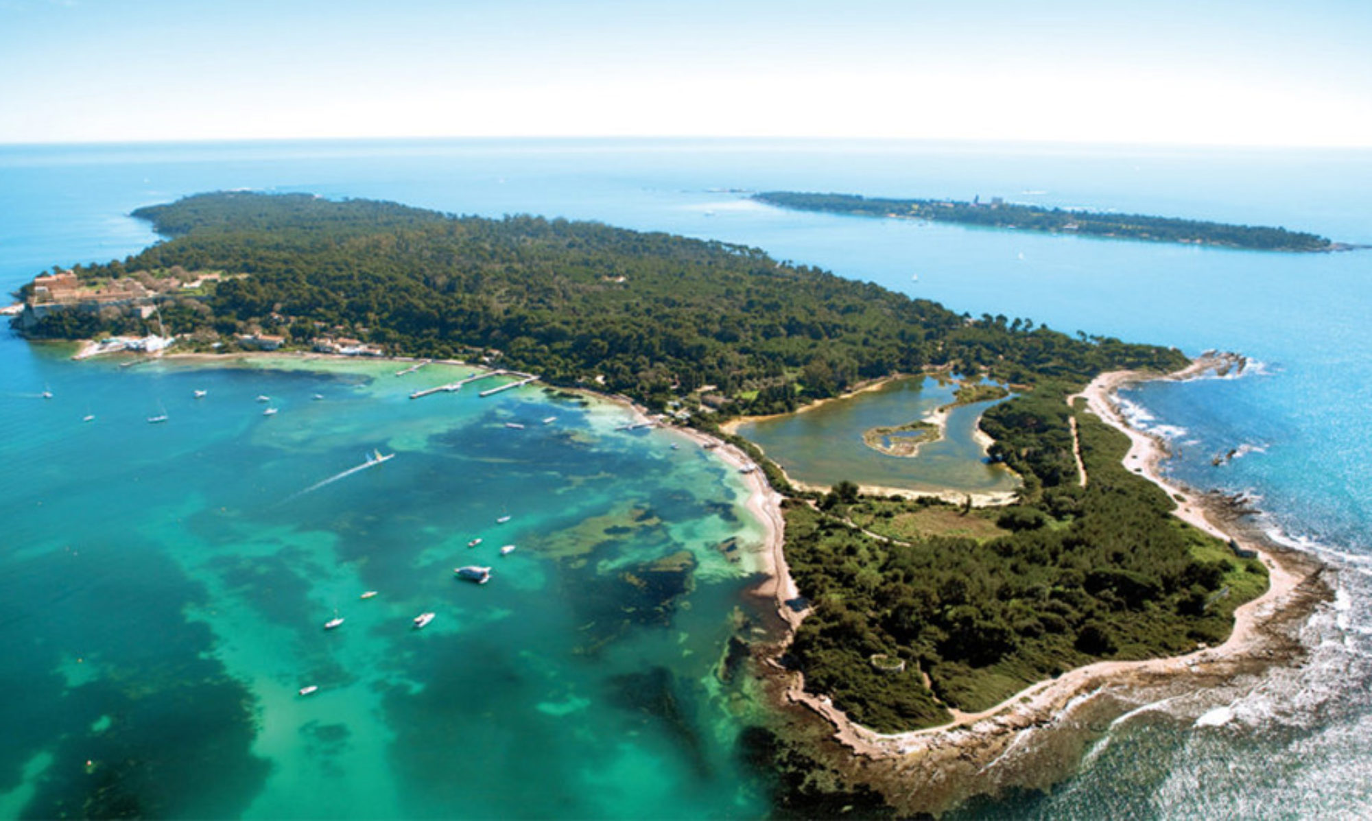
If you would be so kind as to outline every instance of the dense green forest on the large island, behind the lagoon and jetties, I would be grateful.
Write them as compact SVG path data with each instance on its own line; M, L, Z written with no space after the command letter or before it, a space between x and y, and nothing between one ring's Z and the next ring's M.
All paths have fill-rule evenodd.
M134 216L172 239L75 273L88 283L225 273L196 292L165 292L158 314L169 332L221 350L248 332L283 335L288 349L347 335L392 354L484 356L652 408L705 398L726 415L789 410L930 367L1030 384L1185 362L1170 349L958 314L757 248L598 222L248 192ZM129 313L69 310L26 332L148 329Z

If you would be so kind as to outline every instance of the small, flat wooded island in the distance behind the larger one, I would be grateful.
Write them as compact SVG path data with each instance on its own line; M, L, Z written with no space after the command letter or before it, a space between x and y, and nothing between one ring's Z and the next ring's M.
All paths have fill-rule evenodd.
M1224 246L1253 251L1343 251L1353 247L1314 233L1287 231L1286 228L1229 225L1203 220L1113 214L1080 209L1050 209L1006 202L999 196L986 202L982 202L980 196L973 198L971 202L959 202L951 199L892 199L856 194L767 191L755 194L752 199L803 211L927 220L930 222L1018 228L1110 239Z

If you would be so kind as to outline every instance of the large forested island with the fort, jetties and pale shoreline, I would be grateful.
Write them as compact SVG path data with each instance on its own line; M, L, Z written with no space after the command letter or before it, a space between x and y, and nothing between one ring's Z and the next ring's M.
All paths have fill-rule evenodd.
M962 726L1077 669L1218 647L1277 567L1177 519L1185 497L1125 467L1122 426L1088 408L1103 375L1184 372L1176 349L958 314L757 248L595 222L252 192L134 214L169 239L37 276L14 327L96 347L403 354L539 373L622 395L746 472L774 524L759 594L775 599L778 623L735 641L775 686L774 707L808 715L745 739L783 773L782 805L848 806L848 787L805 774L833 772L878 805L945 806L836 763L814 722L870 752L878 736L863 733ZM1007 395L982 379L1014 387L981 421L989 459L1022 479L1014 504L797 489L720 430L900 373L960 373L967 402ZM1017 784L960 783L955 798Z

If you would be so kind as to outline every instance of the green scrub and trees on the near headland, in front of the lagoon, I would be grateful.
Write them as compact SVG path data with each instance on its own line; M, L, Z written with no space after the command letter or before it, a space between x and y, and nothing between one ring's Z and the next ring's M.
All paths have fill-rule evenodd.
M852 486L788 504L786 559L812 604L789 660L808 691L899 732L1095 660L1228 637L1266 568L1170 516L1173 500L1121 464L1128 438L1065 398L1040 386L986 412L988 431L1015 431L996 453L1025 478L1017 505L863 498ZM906 670L878 670L882 656Z

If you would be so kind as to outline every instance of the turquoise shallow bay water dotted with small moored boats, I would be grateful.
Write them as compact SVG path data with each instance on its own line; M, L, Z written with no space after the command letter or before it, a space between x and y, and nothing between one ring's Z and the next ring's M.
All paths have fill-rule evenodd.
M7 386L37 435L0 485L25 704L0 772L40 772L7 814L761 811L713 674L753 578L720 544L759 533L698 448L535 387L409 400L468 372L439 365L32 364L54 397ZM307 490L372 449L395 459ZM690 589L642 568L674 553Z

